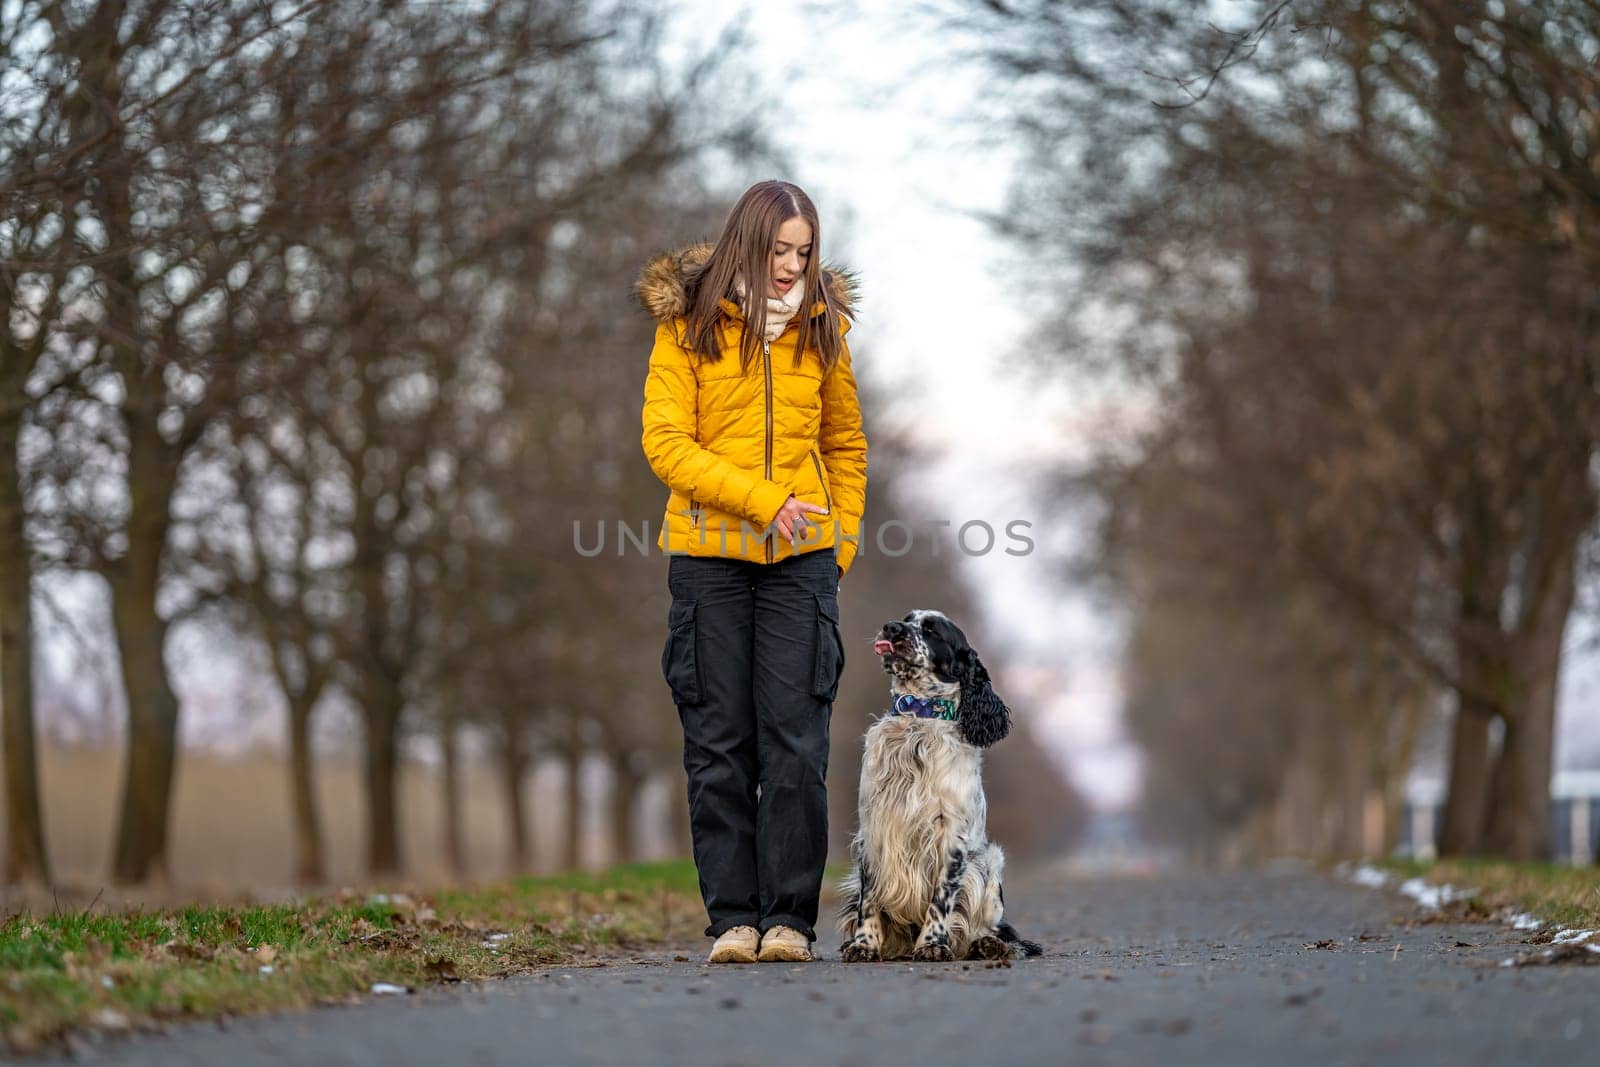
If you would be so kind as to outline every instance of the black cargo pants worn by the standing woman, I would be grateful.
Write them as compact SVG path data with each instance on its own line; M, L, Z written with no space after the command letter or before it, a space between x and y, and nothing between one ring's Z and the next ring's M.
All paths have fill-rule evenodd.
M707 936L816 939L827 723L845 669L835 549L778 563L674 555L661 670L683 723Z

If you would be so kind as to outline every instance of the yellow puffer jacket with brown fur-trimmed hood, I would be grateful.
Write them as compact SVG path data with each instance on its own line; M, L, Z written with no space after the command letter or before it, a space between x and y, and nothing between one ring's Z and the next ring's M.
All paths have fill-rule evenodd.
M749 373L739 370L738 328L726 331L720 360L693 357L680 344L686 280L710 251L710 245L693 245L656 256L634 286L656 320L645 379L645 456L672 490L656 544L670 553L757 563L837 545L838 565L848 571L867 506L867 437L850 346L826 378L814 350L795 366L797 317L750 362ZM840 331L848 331L854 280L829 266L822 282L845 315ZM738 304L725 299L722 306L742 323ZM822 309L822 301L813 301L810 314ZM771 525L790 493L829 509L810 515L813 528L800 526L798 549Z

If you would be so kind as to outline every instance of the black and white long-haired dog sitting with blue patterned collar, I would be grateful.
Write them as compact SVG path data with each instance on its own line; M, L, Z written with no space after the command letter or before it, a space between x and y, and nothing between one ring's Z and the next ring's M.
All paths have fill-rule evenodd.
M1038 955L1005 921L1005 856L984 825L982 750L1011 729L989 672L938 611L885 622L872 651L894 704L867 729L840 955L994 960L1013 944Z

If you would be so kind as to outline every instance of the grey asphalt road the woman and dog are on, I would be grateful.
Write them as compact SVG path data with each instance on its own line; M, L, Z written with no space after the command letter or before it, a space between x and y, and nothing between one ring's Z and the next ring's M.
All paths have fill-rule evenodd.
M664 952L301 1016L106 1038L117 1064L1600 1062L1600 966L1504 968L1504 926L1416 925L1310 872L1006 886L1046 955L704 966ZM1317 942L1331 947L1315 947Z

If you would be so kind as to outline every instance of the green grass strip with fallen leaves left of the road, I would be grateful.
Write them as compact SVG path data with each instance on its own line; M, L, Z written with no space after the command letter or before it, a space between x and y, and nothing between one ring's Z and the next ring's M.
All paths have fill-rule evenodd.
M288 1011L691 939L690 862L294 904L96 912L0 921L0 1046L74 1030Z

